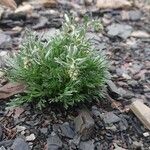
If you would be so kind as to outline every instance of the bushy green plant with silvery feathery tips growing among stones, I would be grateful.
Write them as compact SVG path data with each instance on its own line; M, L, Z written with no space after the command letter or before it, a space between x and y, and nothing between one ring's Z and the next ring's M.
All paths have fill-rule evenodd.
M9 61L7 76L26 85L11 104L32 102L39 108L60 103L65 108L103 95L106 57L85 38L87 23L79 26L65 16L60 32L48 42L28 32L20 51Z

